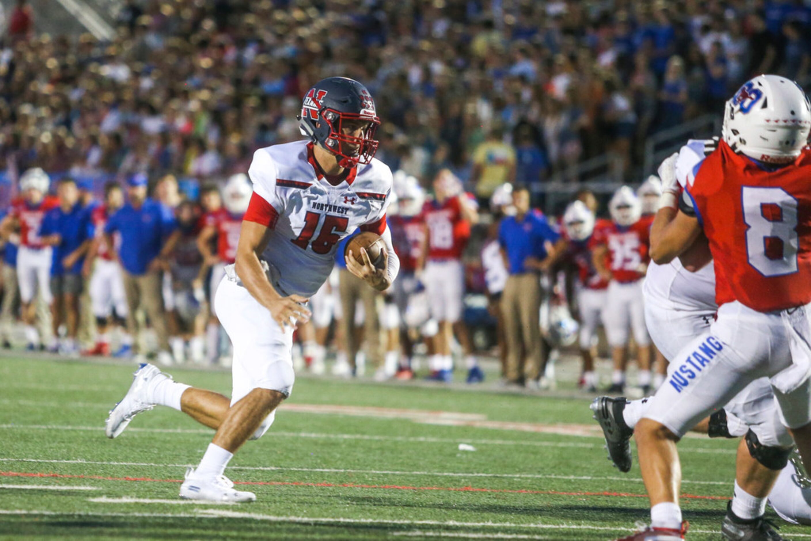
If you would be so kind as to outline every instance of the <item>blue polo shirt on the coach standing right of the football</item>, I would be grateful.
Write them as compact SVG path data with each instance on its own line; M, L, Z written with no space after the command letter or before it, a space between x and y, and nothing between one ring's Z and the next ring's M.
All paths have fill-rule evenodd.
M547 249L543 246L546 241L556 243L560 234L551 228L546 217L540 211L530 210L521 221L516 217L508 216L499 226L499 244L507 252L510 274L533 272L524 268L527 257L534 256L543 260L547 256Z

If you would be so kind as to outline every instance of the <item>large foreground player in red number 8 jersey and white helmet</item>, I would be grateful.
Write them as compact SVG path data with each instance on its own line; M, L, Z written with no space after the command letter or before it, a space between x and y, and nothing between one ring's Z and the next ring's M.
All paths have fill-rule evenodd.
M723 140L689 172L684 194L663 195L651 255L665 264L703 230L719 311L709 331L676 355L637 423L652 525L628 539L684 539L676 442L757 377L770 377L781 421L811 465L809 129L802 88L760 75L727 101ZM762 458L779 469L786 457Z

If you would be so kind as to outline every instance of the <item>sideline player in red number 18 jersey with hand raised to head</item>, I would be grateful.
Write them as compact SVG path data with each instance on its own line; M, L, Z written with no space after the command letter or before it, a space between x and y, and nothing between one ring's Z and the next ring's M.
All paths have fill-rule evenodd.
M426 235L418 269L423 271L431 317L440 324L436 353L429 359L429 367L435 379L451 380L451 341L456 331L471 380L470 376L478 376L481 370L471 353L467 328L461 320L465 296L461 255L470 239L470 225L478 221L478 210L474 200L462 191L459 179L449 170L441 170L434 179L434 199L423 206L422 219Z

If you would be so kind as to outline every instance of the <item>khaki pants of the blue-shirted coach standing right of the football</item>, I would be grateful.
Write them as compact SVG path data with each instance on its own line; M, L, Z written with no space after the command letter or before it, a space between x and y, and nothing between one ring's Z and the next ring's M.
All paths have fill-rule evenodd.
M507 340L509 381L537 380L543 364L540 309L543 293L537 274L513 274L501 294L501 313Z

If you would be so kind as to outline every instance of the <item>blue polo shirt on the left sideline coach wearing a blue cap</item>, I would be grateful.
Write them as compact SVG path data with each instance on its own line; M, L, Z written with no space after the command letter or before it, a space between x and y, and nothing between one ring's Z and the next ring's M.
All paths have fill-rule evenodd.
M118 231L121 235L118 257L127 273L144 274L174 228L174 216L160 203L148 199L140 208L127 203L118 209L109 217L105 233Z

